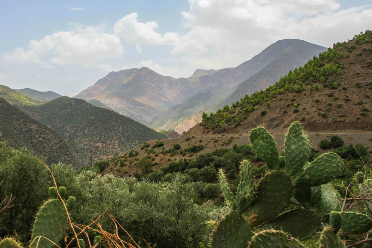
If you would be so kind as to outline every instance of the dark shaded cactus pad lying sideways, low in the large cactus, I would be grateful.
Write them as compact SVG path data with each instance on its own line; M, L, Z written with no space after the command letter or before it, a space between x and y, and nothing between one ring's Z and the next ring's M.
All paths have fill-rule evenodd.
M294 209L280 214L274 220L260 226L260 229L275 229L291 234L298 240L314 235L320 226L318 213L310 209Z

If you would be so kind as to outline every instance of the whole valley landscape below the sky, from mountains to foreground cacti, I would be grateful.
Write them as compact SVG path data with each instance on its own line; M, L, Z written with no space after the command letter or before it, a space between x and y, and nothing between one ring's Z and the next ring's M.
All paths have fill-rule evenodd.
M1 85L0 248L368 244L371 35L72 98Z

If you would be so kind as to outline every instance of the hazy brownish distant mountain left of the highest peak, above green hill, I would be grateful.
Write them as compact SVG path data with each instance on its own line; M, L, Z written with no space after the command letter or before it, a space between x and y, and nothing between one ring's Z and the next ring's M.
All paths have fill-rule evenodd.
M99 100L118 113L147 124L193 92L186 78L166 77L142 67L110 72L76 97Z

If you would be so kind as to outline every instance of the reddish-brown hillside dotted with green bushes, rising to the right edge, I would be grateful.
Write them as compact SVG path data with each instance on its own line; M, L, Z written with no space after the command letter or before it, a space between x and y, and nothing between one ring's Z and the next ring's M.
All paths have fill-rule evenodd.
M320 148L320 140L338 135L344 145L366 146L365 153L369 151L371 157L371 34L366 31L347 43L337 43L302 67L287 72L265 90L246 95L242 101L212 115L204 114L202 123L179 139L161 143L151 140L131 154L111 159L105 172L126 177L142 174L150 180L167 181L172 172L185 171L192 178L203 179L202 171L198 174L197 170L186 170L194 168L190 160L198 164L196 168L211 164L231 166L234 161L241 161L243 156L236 153L252 152L247 146L249 132L257 126L264 126L271 132L281 153L287 128L294 121L302 123L315 153L327 152ZM340 152L347 154L345 149ZM133 154L137 154L134 160ZM253 157L254 154L249 160L257 163L257 157ZM152 170L145 171L141 167L146 159L151 160L147 162L152 165L152 174L146 175ZM259 164L254 168L260 168ZM124 170L119 170L122 165ZM235 166L238 168L239 164Z

